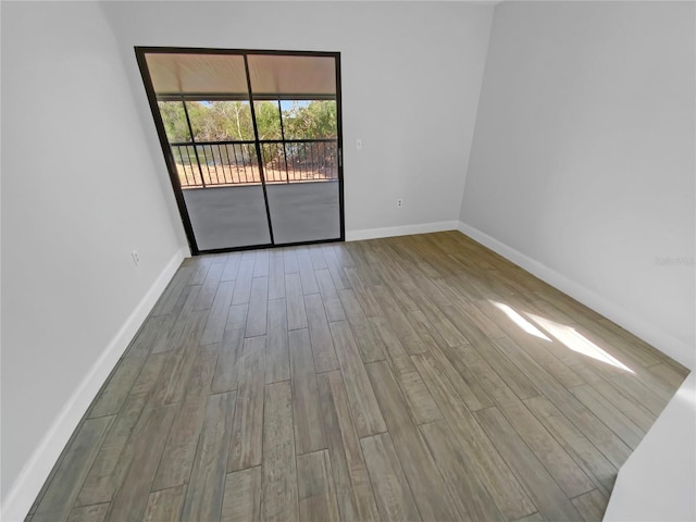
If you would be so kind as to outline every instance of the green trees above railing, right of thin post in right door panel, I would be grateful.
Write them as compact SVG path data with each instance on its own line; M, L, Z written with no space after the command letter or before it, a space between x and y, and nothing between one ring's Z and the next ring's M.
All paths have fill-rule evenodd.
M336 101L283 100L283 128L286 139L336 138Z

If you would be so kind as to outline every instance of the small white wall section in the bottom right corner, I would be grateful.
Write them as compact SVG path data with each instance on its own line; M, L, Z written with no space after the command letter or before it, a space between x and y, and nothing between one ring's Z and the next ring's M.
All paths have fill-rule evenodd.
M696 520L696 374L621 467L605 522Z

